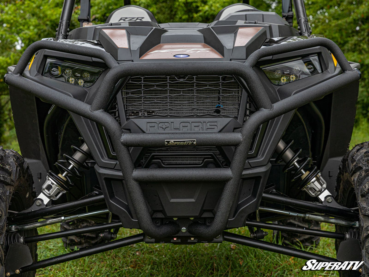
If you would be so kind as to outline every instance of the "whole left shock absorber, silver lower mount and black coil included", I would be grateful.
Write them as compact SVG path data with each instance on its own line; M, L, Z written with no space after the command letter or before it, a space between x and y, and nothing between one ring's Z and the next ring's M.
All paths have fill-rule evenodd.
M62 194L69 191L73 187L73 182L70 176L80 179L82 175L79 172L80 168L88 169L89 165L86 164L87 159L91 159L92 155L86 143L83 143L80 147L72 145L71 148L74 151L72 156L63 154L65 160L58 160L55 166L60 171L56 174L50 170L46 176L46 181L41 187L41 194L36 199L36 205L46 205L51 200L58 199ZM42 202L41 202L42 201Z

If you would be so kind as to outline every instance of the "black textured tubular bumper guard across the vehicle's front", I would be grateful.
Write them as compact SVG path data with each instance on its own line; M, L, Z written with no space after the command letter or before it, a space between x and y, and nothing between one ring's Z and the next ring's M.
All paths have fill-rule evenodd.
M312 88L307 88L295 95L272 104L265 89L261 85L261 80L253 69L256 62L263 57L318 46L325 47L330 50L336 57L338 64L344 72L341 75L332 77L331 79L328 79ZM160 74L164 75L196 75L196 72L203 72L211 69L214 74L224 74L224 72L228 72L237 76L242 76L245 78L245 81L253 80L252 83L247 83L247 85L250 95L254 99L259 110L253 113L244 122L240 136L238 135L239 137L235 137L234 133L186 133L185 138L197 139L199 141L198 146L213 146L214 143L227 143L230 139L233 141L232 143L237 144L230 168L226 172L227 179L229 180L224 185L223 192L220 196L218 211L215 213L213 222L210 226L201 223L190 223L187 229L193 235L211 240L220 235L227 226L231 207L237 194L237 188L239 186L239 181L244 169L252 137L259 126L273 118L297 109L298 107L306 105L316 99L322 98L323 96L346 87L353 82L359 81L361 77L358 70L351 68L341 49L327 38L310 38L309 40L294 41L286 44L275 45L273 47L261 48L252 53L244 64L230 61L184 62L186 66L184 66L183 62L165 63L165 66L160 66L162 62L131 62L118 64L118 62L115 61L107 52L101 49L90 49L89 56L103 59L110 68L110 72L108 72L103 83L101 83L92 105L89 105L52 88L48 88L40 83L31 81L21 75L32 55L39 49L50 49L72 54L86 55L86 48L80 45L66 45L55 41L34 42L26 49L14 71L8 72L6 76L4 76L4 81L8 85L18 89L23 89L25 92L41 98L46 102L55 104L56 106L62 107L63 109L99 123L107 130L116 150L123 178L127 185L128 196L131 199L140 229L142 229L147 236L155 239L161 239L177 234L180 232L180 226L173 221L169 221L168 223L160 226L156 226L153 223L146 200L137 179L141 180L142 176L146 175L146 180L151 181L151 179L156 178L157 172L152 170L147 170L145 172L142 172L142 170L137 171L134 167L128 147L132 139L145 141L145 143L155 145L157 143L163 143L163 137L159 137L157 134L151 133L123 133L117 120L104 111L107 101L110 99L111 93L113 93L113 89L111 88L114 88L117 79L130 75L147 75L148 73L150 75L152 72L157 74L159 69ZM170 139L175 134L168 133L167 135L168 137L166 137L166 139ZM203 168L168 168L162 170L161 174L161 176L165 178L170 175L172 181L177 181L177 179L182 181L191 181L193 176L198 178L201 174L204 178L208 176L207 171L204 172Z

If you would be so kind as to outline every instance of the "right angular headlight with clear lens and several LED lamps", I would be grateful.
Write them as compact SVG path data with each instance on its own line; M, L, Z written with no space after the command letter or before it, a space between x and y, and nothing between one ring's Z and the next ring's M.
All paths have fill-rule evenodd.
M317 55L262 68L274 85L284 85L322 72Z

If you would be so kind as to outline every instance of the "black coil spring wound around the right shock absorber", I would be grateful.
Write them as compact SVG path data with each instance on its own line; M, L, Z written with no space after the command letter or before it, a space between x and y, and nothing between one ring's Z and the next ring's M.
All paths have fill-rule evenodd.
M286 147L283 148L283 150L277 155L275 162L277 164L279 164L281 161L283 161L282 156L284 153L286 153L286 151L292 146L293 144L293 140L289 140L286 142ZM294 173L292 174L291 177L291 181L296 181L297 179L299 179L300 177L303 176L303 168L309 163L310 161L310 157L304 157L304 158L299 158L299 155L301 154L302 149L301 148L297 148L293 151L294 155L292 156L292 158L290 158L289 161L286 162L286 165L283 167L282 171L284 173L288 172L288 171L292 171L293 169L296 169L294 171ZM298 167L296 165L294 165L296 162L296 165L298 165ZM315 177L317 177L318 174L320 174L320 170L318 170L318 168L313 165L312 167L309 167L307 169L307 171L309 171L309 173L297 184L297 186L299 188L304 188L307 184L309 184Z

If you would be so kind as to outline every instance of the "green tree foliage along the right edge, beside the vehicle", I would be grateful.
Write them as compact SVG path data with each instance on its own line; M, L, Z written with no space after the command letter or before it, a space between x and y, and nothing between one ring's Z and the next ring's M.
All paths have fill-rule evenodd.
M315 34L336 42L349 61L361 64L357 119L369 119L369 1L319 0L306 3ZM347 97L350 97L348 93Z

